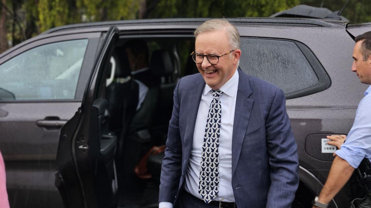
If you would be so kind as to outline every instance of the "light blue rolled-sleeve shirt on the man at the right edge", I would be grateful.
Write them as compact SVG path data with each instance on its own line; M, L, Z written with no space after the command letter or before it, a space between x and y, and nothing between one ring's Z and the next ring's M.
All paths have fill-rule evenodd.
M349 165L358 168L363 158L371 161L371 86L365 91L365 97L358 104L355 119L347 140L341 145L336 155L346 160Z

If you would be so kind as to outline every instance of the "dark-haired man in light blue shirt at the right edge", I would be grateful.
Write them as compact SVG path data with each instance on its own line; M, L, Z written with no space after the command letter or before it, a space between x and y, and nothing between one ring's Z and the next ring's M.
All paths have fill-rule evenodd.
M371 31L355 37L352 71L363 84L371 84ZM341 149L335 152L335 159L319 197L315 198L312 208L325 208L332 198L349 180L355 168L366 157L371 159L371 86L365 91L365 97L359 102L355 120L348 138ZM370 198L363 205L371 207Z

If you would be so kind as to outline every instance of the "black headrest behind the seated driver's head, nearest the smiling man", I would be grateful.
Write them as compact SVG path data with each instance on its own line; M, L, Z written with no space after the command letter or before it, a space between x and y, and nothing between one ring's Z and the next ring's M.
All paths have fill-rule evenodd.
M151 56L151 73L156 76L170 76L174 73L173 63L171 63L168 51L156 50Z

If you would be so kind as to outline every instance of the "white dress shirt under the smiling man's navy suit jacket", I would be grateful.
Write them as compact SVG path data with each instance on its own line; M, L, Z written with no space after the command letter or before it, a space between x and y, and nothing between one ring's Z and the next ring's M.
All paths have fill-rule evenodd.
M214 201L234 202L232 188L232 133L238 81L239 75L236 70L232 78L230 78L230 80L219 89L223 92L220 97L221 125L219 138L219 195L214 198ZM198 184L200 178L203 136L212 100L213 95L211 93L211 88L209 85L205 84L204 91L201 95L200 105L198 107L193 134L193 147L184 184L185 191L199 199L202 199L201 195L198 193ZM165 207L173 208L173 204L170 202L160 202L159 208Z

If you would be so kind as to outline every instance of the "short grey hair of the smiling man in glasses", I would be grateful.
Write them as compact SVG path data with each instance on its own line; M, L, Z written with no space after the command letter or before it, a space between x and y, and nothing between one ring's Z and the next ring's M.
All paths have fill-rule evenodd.
M234 27L226 19L212 19L202 23L200 27L194 31L194 37L197 38L199 34L213 32L213 31L225 31L229 38L230 50L240 49L241 39L237 28Z

